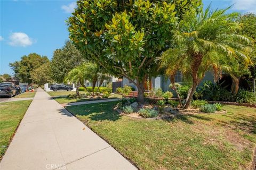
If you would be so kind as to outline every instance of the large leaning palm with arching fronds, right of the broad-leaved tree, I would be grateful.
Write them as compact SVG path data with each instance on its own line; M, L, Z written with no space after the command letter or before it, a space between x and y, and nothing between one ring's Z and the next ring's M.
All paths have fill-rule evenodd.
M182 63L189 62L188 70L193 82L185 108L190 105L198 83L209 68L204 63L210 60L212 52L225 56L226 61L230 58L250 60L247 54L251 52L251 41L234 33L241 29L241 25L234 21L238 14L227 13L228 9L211 11L210 6L205 11L201 6L199 12L198 9L190 9L183 14L183 20L177 23L173 36L175 46L171 49L182 49L179 56L182 57Z

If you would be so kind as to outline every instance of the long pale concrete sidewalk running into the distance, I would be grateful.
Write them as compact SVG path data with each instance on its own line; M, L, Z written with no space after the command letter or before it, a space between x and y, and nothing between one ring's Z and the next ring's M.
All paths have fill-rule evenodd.
M37 90L0 169L136 168L46 92Z

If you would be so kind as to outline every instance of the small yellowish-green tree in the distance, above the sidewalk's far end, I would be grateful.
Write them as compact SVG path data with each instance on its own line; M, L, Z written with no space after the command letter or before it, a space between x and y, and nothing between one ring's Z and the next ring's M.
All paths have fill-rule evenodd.
M33 83L36 83L38 86L41 86L45 83L52 82L51 80L51 70L49 69L50 62L47 62L37 69L31 72L31 78Z

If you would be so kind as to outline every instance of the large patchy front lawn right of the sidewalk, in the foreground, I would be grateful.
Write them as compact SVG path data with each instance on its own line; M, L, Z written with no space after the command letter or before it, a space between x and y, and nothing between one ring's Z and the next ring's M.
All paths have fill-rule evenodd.
M224 106L227 114L136 120L116 102L68 106L82 122L140 169L249 169L256 146L256 109Z

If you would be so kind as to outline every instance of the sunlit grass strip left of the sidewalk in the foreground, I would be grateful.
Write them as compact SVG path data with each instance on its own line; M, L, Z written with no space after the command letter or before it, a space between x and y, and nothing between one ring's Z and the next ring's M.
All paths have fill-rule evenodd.
M32 100L0 103L0 159Z

